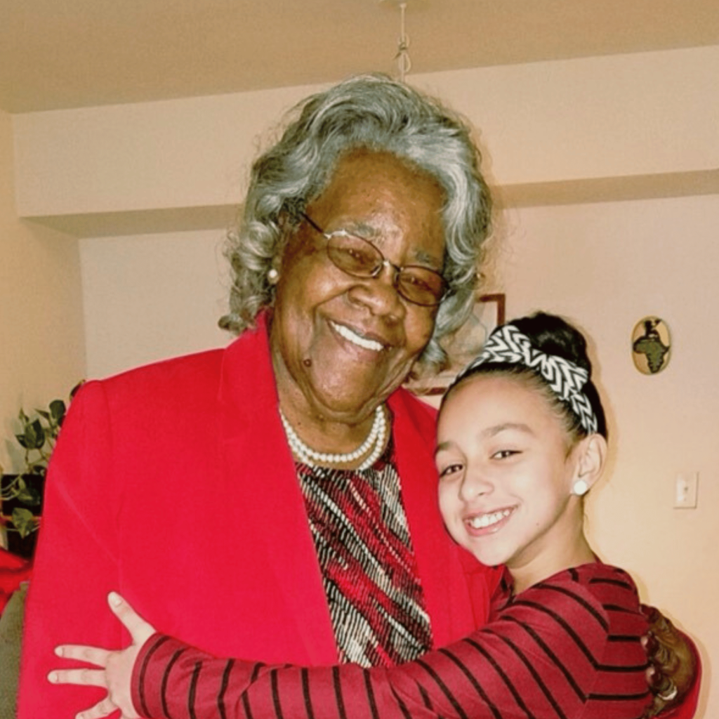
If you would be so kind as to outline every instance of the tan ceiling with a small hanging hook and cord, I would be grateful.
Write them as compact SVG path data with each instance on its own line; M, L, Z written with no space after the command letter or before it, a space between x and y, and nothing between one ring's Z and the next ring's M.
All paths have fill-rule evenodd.
M407 0L412 73L719 44L718 0ZM0 0L0 109L396 73L395 0Z

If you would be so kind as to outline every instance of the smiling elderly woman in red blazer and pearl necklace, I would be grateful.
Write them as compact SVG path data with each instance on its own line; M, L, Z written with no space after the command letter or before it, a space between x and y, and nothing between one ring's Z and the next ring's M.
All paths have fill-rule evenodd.
M408 86L355 78L301 106L234 237L239 339L73 402L21 719L91 702L46 677L58 644L124 643L109 590L164 633L272 663L391 666L485 622L497 574L446 535L434 411L400 385L444 361L490 206L467 127Z

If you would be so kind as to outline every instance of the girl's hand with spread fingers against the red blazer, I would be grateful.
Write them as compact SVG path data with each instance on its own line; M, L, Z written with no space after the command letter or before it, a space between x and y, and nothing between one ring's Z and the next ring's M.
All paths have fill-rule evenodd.
M105 687L107 690L107 696L103 700L76 715L75 719L101 719L118 709L122 719L139 719L139 714L132 705L130 692L132 667L139 650L155 633L155 628L116 592L110 592L107 599L114 615L132 636L132 644L119 651L83 644L63 644L55 649L55 654L63 659L86 661L101 669L54 669L47 675L47 679L53 684L81 684Z

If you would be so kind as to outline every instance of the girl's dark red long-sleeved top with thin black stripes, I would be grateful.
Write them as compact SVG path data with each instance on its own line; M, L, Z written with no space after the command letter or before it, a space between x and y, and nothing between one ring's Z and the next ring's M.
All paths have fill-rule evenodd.
M561 572L445 649L392 669L268 667L155 636L132 682L145 717L634 719L651 699L636 588L620 569Z

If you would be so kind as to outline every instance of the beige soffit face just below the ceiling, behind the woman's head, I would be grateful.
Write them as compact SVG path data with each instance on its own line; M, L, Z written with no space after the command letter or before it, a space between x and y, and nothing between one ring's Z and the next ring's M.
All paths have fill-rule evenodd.
M487 168L516 197L612 178L682 193L705 175L719 191L718 75L719 45L412 79L480 129ZM171 211L232 205L258 138L311 89L17 116L19 212L96 237L117 213L157 232Z

